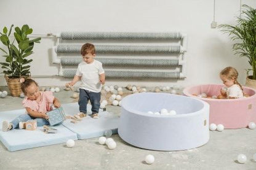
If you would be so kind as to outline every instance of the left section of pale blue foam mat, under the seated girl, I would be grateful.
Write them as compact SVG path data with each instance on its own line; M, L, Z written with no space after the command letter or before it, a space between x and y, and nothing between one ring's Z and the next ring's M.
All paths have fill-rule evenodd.
M25 109L10 110L6 112L0 112L0 125L2 128L2 121L12 121L20 114L24 114ZM0 131L0 140L6 148L12 152L16 150L29 149L33 147L42 147L53 144L60 144L68 141L68 139L76 140L76 133L65 128L63 125L54 126L58 133L46 134L43 132L42 127L36 128L34 131L28 131L25 129L13 129L8 132Z

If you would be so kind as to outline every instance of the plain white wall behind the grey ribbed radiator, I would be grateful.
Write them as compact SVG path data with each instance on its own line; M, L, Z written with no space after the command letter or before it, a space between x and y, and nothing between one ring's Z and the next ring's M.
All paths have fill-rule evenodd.
M235 23L239 15L239 0L215 0L215 20L218 24ZM242 1L256 7L256 1ZM214 15L214 0L1 0L0 29L4 26L28 24L33 34L61 31L122 31L164 32L181 31L188 34L186 79L178 81L140 81L140 85L195 85L221 83L218 73L226 66L239 71L239 82L245 83L249 68L246 58L234 56L231 42L220 29L210 28ZM56 75L58 65L52 64L50 48L54 38L42 38L36 44L31 64L33 75ZM0 46L4 48L3 45ZM3 54L0 51L1 55ZM0 61L3 61L0 57ZM0 68L0 72L2 69ZM1 74L2 75L2 74ZM34 77L39 85L64 85L70 80L62 77ZM107 80L107 85L127 85L125 80ZM135 83L135 82L130 82ZM0 85L6 85L0 77Z

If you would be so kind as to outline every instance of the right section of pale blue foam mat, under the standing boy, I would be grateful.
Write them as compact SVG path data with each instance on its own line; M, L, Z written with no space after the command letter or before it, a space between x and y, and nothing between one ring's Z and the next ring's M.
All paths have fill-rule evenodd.
M66 115L74 115L79 112L77 103L63 104L62 105ZM110 130L112 133L118 133L119 117L116 114L110 112L103 112L100 109L100 118L91 118L92 112L90 109L92 106L87 105L87 117L77 121L77 123L71 123L70 120L65 120L63 125L78 135L78 139L88 139L91 137L103 136L105 131Z

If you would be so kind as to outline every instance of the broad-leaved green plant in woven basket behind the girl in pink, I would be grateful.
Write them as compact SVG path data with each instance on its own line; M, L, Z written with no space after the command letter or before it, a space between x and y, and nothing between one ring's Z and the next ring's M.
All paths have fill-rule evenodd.
M14 34L12 35L12 28L14 25L10 26L8 30L6 27L0 32L0 40L3 45L7 47L7 50L0 48L4 55L5 62L0 63L3 73L6 77L6 82L12 96L20 96L22 90L20 88L20 78L30 76L30 63L32 59L27 59L33 53L34 43L39 43L41 37L35 39L30 39L29 34L33 32L28 25L23 25L22 28L18 26L14 29ZM14 36L13 40L10 36Z

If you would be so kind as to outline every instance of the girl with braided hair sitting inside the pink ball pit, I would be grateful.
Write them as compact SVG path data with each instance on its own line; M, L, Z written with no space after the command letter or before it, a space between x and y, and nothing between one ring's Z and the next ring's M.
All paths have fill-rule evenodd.
M238 71L232 67L223 69L220 72L220 79L226 87L220 89L218 98L236 99L244 96L242 86L238 83Z

